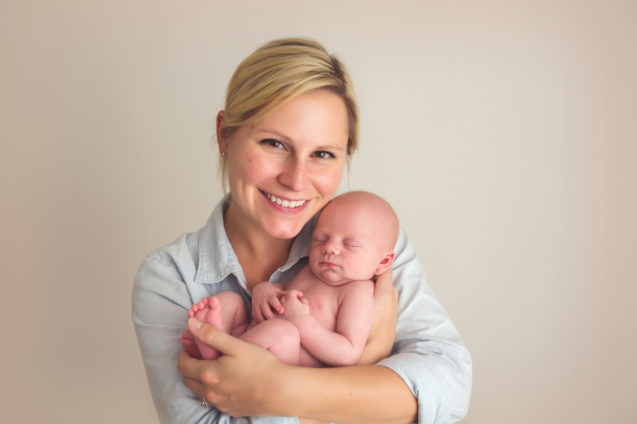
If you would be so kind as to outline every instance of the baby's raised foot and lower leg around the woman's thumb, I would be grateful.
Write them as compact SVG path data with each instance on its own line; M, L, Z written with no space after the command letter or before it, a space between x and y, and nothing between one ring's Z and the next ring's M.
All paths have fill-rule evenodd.
M248 327L248 313L245 307L243 297L235 292L220 292L216 296L204 297L199 303L193 304L189 317L195 317L198 320L207 322L221 331L231 334L231 336L239 337L246 331ZM194 346L189 341L192 335L185 332L182 335L182 345L186 346L190 354L193 355ZM206 345L203 341L194 338L197 348L202 359L217 359L221 356L215 348Z

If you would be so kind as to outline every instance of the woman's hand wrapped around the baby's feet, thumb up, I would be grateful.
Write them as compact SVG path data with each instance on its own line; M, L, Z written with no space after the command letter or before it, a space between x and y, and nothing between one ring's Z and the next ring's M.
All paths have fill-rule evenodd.
M199 327L199 328L197 328ZM183 384L230 416L282 414L282 379L289 367L261 346L247 343L219 331L212 325L190 318L188 329L194 337L223 353L216 360L197 360L187 350L179 355L177 369ZM231 400L232 399L232 400Z

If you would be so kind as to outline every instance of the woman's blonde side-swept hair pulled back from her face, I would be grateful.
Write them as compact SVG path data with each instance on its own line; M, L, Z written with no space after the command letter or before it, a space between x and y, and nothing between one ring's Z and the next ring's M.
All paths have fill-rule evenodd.
M280 38L263 44L239 64L225 93L223 142L248 123L260 121L289 100L310 90L338 95L347 109L347 162L358 147L359 110L352 79L343 62L311 38ZM227 186L225 160L219 156L221 184Z

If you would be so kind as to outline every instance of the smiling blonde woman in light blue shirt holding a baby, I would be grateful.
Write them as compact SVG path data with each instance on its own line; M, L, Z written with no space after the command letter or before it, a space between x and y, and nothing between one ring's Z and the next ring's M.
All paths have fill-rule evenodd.
M204 228L150 254L134 284L132 318L162 423L447 423L466 414L471 359L402 230L400 296L391 271L378 277L360 365L286 366L201 322L190 332L224 356L197 360L181 349L192 303L234 291L250 306L256 284L284 282L307 263L313 217L341 181L358 125L347 71L316 41L264 44L234 72L217 116L230 194Z

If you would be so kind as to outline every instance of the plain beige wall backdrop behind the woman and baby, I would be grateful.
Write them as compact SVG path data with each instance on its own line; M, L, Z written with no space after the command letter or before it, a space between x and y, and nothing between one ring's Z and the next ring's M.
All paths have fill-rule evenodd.
M132 280L220 198L234 67L296 35L352 70L350 188L471 352L463 422L634 422L634 1L47 3L0 6L1 422L157 423Z

